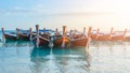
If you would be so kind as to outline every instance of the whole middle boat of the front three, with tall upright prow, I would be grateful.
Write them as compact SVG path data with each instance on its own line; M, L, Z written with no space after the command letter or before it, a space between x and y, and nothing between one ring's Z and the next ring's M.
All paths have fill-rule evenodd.
M53 36L53 44L54 47L67 47L69 44L70 40L66 35L66 26L63 26L63 34L58 34L57 30L55 35Z

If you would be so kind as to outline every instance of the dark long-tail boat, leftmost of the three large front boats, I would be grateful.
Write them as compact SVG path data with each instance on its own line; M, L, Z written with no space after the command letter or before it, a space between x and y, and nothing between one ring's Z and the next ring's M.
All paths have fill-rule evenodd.
M32 38L32 42L37 47L49 47L51 36L49 33L39 34L39 25L36 25L36 36Z

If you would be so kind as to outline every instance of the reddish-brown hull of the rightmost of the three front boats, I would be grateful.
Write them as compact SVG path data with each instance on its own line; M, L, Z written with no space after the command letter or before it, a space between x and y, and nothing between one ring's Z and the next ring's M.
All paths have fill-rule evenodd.
M70 41L70 46L75 47L75 46L87 46L88 43L88 39L80 39L80 40L75 40L75 41Z

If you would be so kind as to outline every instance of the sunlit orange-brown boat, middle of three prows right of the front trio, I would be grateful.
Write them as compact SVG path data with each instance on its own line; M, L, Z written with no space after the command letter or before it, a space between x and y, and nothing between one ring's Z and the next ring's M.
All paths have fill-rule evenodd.
M112 39L112 34L113 34L113 28L110 29L110 32L109 33L107 33L107 34L99 34L99 36L98 36L98 41L110 41L110 39Z

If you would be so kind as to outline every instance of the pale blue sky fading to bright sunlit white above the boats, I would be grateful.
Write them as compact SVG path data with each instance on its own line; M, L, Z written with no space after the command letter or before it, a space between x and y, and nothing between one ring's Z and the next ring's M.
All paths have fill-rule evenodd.
M0 27L129 29L129 0L1 0Z

